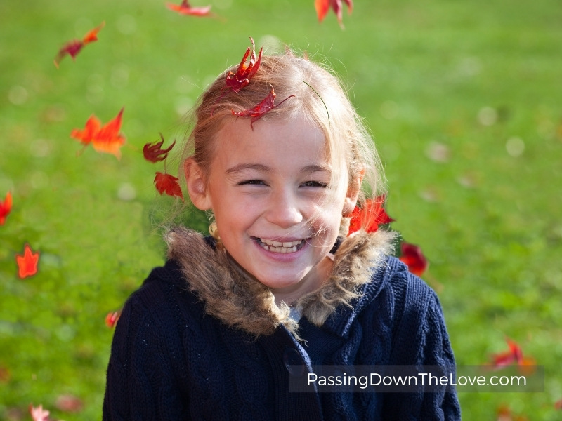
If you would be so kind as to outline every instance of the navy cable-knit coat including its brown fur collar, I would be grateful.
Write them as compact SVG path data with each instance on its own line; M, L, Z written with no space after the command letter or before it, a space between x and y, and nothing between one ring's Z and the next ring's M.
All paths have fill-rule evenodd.
M454 365L436 294L377 252L389 239L346 239L330 285L299 300L296 323L261 284L248 295L252 281L217 260L214 241L172 232L166 265L117 323L103 420L459 420L454 390L289 391L313 366Z

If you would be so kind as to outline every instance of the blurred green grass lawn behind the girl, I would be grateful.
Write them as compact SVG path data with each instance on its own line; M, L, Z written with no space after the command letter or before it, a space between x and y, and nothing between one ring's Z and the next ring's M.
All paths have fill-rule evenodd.
M179 3L179 1L178 1ZM112 330L164 248L146 142L180 138L204 86L253 36L331 63L372 129L388 213L431 265L459 364L516 340L546 366L545 392L461 394L466 420L509 406L556 420L562 398L562 4L558 0L356 0L318 23L313 0L192 1L220 19L148 0L0 3L0 419L100 419ZM60 69L65 41L105 21L99 41ZM91 114L125 107L120 161L70 139ZM201 215L188 223L204 230ZM41 252L20 280L15 254ZM62 410L60 396L83 408Z

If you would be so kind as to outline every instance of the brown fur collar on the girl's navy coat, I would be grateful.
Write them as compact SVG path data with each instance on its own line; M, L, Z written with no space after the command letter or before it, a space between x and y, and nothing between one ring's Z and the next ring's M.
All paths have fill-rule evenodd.
M332 275L318 290L294 303L302 316L322 326L339 305L350 305L368 283L372 272L391 254L396 235L379 229L346 237L336 250ZM258 337L271 335L284 325L297 336L298 323L289 317L289 306L277 305L271 290L247 276L218 243L216 248L183 227L166 233L168 258L178 262L188 288L205 303L207 314Z

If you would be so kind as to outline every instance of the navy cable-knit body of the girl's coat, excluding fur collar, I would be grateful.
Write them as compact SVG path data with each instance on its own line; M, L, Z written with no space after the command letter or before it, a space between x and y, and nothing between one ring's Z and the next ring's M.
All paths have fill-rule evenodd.
M258 339L204 312L175 262L126 302L103 420L460 420L454 389L299 393L315 366L454 366L438 298L396 258L321 327ZM353 367L350 367L353 368Z

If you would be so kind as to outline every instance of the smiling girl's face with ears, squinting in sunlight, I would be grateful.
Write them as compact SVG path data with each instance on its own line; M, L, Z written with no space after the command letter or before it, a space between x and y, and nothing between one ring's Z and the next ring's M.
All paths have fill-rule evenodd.
M341 185L329 187L334 168L320 128L300 116L259 121L254 130L247 119L229 118L212 141L210 171L188 159L186 180L195 206L213 211L230 256L277 302L318 288L344 204L356 199L345 168L337 169Z

